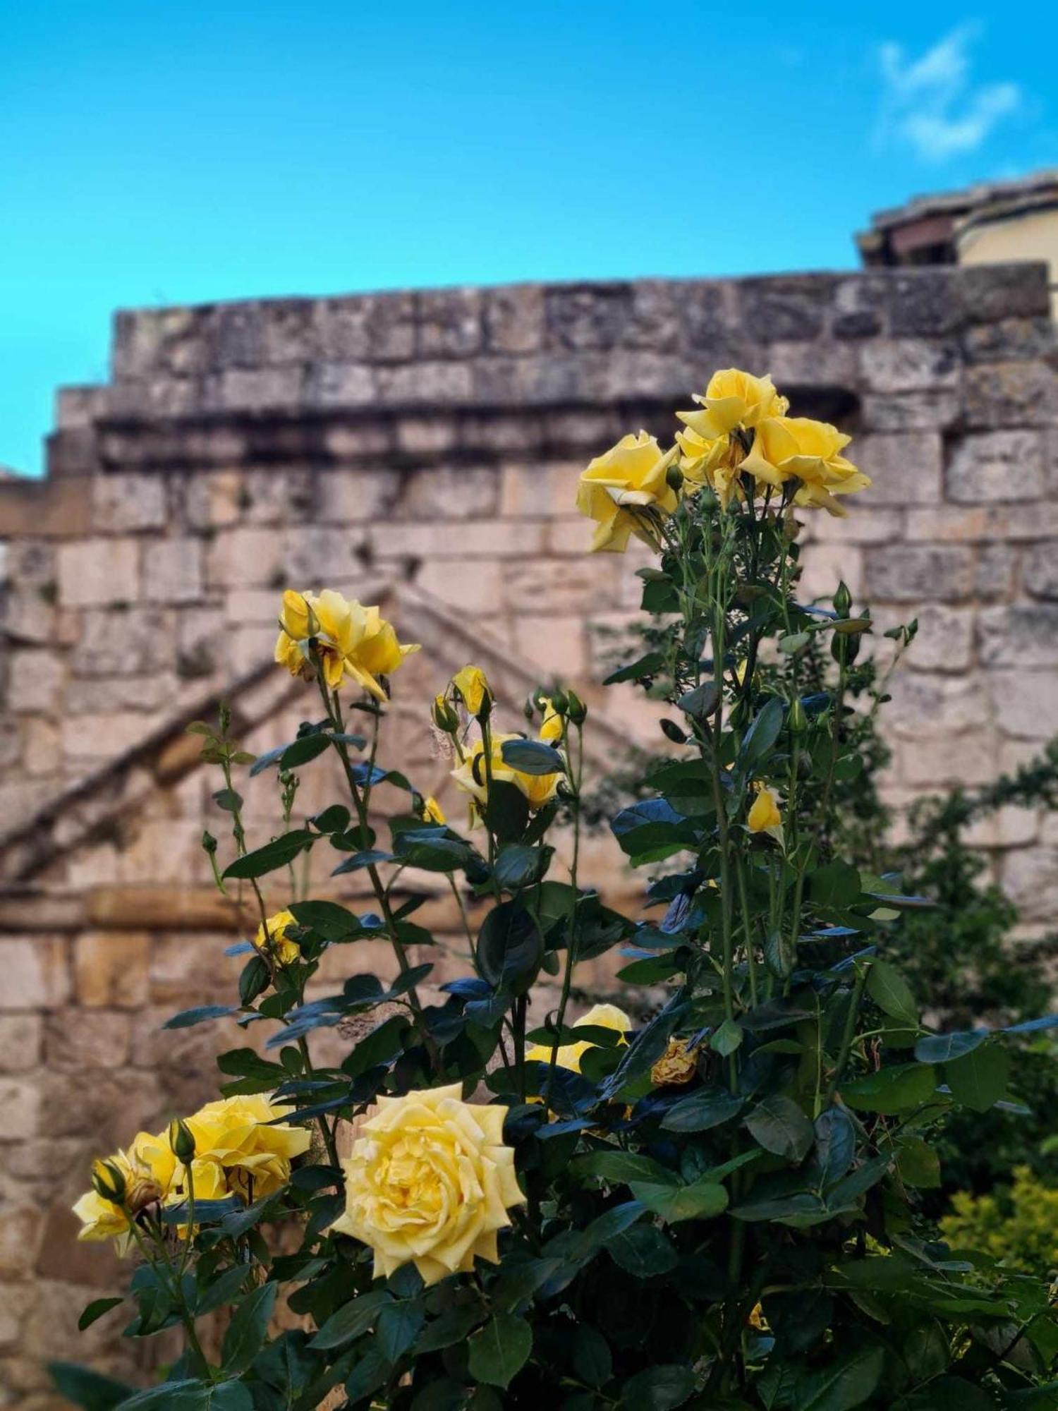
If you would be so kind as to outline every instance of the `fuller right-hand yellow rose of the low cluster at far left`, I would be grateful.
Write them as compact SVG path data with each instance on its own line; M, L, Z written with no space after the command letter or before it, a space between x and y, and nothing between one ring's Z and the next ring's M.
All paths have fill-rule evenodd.
M293 1108L276 1105L264 1094L207 1102L188 1118L196 1158L221 1165L229 1188L240 1195L268 1195L289 1181L293 1157L309 1150L305 1127L275 1122L289 1112Z

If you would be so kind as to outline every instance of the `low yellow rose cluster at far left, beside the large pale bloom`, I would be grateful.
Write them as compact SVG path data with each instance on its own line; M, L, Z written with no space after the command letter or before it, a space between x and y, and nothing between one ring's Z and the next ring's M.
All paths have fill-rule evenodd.
M79 1239L117 1239L124 1250L133 1221L148 1206L178 1206L237 1195L253 1201L269 1195L291 1177L291 1161L309 1150L305 1127L279 1120L292 1112L264 1094L207 1102L183 1123L151 1136L138 1132L133 1144L92 1171L90 1191L73 1206L82 1222ZM193 1141L186 1151L175 1133Z

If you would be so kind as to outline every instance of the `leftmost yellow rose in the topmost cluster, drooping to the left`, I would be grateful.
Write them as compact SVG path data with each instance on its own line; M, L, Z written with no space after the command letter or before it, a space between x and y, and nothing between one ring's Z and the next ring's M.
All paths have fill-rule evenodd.
M638 436L622 436L616 446L597 456L581 473L577 509L598 522L591 540L592 553L624 553L631 535L656 547L649 525L636 511L655 509L670 515L676 509L676 491L669 485L666 471L677 454L677 446L662 452L656 436L640 432Z

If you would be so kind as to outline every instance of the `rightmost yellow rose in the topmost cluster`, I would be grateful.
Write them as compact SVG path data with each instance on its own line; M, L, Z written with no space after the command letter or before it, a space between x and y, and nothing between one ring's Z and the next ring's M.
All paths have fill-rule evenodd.
M870 484L870 478L841 454L851 439L829 422L774 416L758 426L742 468L770 485L800 480L796 504L818 505L832 515L844 515L845 509L834 497L855 494Z

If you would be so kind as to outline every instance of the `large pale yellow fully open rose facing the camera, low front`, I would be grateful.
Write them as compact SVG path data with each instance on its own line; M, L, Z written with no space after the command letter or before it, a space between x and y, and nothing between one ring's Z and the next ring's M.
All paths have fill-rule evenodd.
M375 1278L412 1263L423 1283L499 1263L497 1232L525 1201L504 1146L506 1108L471 1106L461 1086L379 1098L341 1163L346 1213L332 1229L375 1252Z

